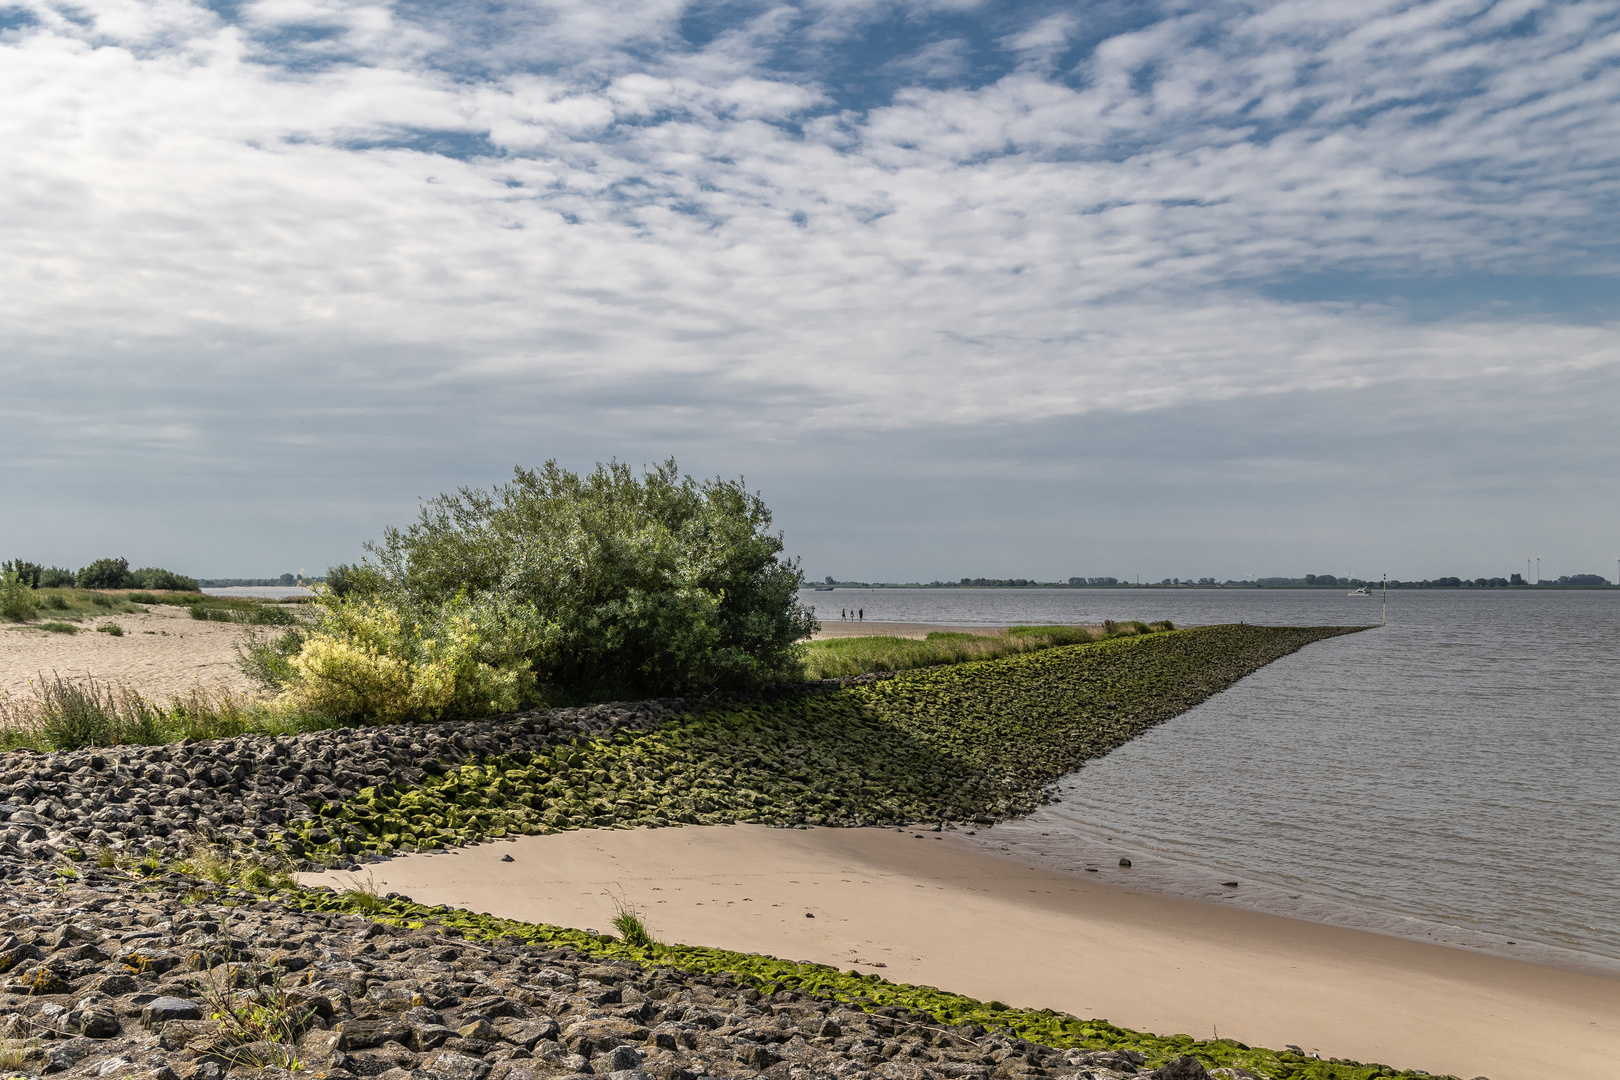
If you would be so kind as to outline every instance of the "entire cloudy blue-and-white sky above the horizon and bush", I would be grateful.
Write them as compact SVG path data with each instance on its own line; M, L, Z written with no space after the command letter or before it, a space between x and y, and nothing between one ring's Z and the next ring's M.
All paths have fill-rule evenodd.
M0 0L0 554L514 465L813 576L1604 573L1620 6Z

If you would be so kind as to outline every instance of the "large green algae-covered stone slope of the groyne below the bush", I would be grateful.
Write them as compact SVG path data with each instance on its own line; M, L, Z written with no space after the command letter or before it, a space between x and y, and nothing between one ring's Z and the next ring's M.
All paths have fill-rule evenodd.
M318 803L288 852L580 827L893 826L1025 814L1089 758L1345 627L1199 627L784 695Z

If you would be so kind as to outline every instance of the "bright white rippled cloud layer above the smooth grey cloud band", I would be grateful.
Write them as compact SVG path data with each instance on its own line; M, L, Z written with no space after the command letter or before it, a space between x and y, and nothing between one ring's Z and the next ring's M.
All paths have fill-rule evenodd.
M504 26L337 0L240 24L178 0L31 10L0 39L10 366L703 377L813 431L1620 363L1614 324L1414 324L1244 285L1615 272L1610 5L1200 6L1072 79L1014 65L870 108L771 66L889 11L867 5L761 8L705 49L676 3ZM1534 32L1502 32L1523 15ZM277 37L313 26L332 34ZM1004 45L1051 53L1076 26Z

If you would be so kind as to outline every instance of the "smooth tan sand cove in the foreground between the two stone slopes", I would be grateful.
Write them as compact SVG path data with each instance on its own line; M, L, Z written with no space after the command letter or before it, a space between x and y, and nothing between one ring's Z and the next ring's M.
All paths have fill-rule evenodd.
M948 832L578 831L305 879L368 876L423 904L598 929L619 895L663 941L1158 1033L1490 1080L1620 1075L1620 980L1134 894Z

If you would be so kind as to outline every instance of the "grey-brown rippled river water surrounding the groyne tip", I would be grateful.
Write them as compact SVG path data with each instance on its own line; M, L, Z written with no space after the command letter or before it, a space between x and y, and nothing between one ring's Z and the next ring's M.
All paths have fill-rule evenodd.
M1343 589L804 599L823 619L959 625L1380 619L1380 597ZM1277 661L1059 789L975 840L1131 889L1620 975L1620 594L1390 593L1388 625Z

